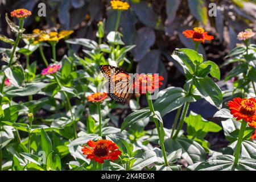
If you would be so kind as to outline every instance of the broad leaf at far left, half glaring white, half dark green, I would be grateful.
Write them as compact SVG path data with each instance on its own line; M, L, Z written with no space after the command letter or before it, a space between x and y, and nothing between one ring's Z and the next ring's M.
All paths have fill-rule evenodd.
M20 65L13 65L12 68L6 68L4 72L11 84L16 87L22 86L24 81L24 73L23 68Z

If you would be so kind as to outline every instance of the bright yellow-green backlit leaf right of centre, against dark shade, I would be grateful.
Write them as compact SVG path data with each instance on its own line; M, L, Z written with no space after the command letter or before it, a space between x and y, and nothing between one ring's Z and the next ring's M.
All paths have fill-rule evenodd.
M201 115L193 113L192 111L189 116L185 118L185 122L188 125L188 135L195 136L200 139L203 139L208 132L217 133L222 129L216 123L207 121L201 117Z

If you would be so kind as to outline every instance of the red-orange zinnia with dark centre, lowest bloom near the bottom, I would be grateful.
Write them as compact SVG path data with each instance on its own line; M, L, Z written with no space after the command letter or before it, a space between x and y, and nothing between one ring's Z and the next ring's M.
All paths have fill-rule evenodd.
M82 152L86 156L86 159L95 160L98 163L104 163L104 160L117 160L118 156L122 154L121 151L117 150L118 146L111 140L98 140L94 142L89 140L87 142L88 146L92 147L82 147Z

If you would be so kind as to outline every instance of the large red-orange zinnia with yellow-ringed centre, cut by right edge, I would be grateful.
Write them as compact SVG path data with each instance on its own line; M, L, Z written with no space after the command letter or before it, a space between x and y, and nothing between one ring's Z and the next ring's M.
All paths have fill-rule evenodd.
M244 119L245 122L256 121L256 100L254 98L236 97L233 101L228 102L230 113L233 114L237 121Z

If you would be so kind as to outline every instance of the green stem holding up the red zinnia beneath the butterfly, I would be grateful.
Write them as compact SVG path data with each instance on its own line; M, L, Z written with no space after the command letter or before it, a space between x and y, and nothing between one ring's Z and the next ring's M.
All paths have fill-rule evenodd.
M152 97L151 97L151 93L146 93L146 97L147 97L147 104L148 104L148 107L150 107L150 111L153 113L153 118L154 118L154 122L155 122L155 126L156 126L156 130L158 131L158 137L159 137L159 140L161 140L161 138L164 138L164 136L161 136L161 131L164 131L163 130L163 126L160 125L159 126L159 121L158 119L156 119L154 116L155 116L155 109L154 109L154 105L152 103ZM162 134L164 135L164 132L162 132ZM164 147L164 142L160 142L160 146L161 146L161 149L162 149L162 154L163 154L163 158L164 158L164 164L165 166L169 166L168 164L168 160L167 160L167 155L166 155L166 149Z

